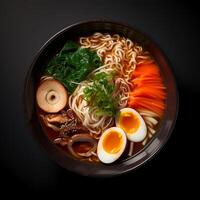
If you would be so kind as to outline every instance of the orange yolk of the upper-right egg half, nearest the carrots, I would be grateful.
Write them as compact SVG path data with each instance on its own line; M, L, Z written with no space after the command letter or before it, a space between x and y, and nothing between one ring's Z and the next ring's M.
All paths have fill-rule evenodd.
M126 133L134 133L140 126L140 120L131 112L122 113L119 117L119 126Z

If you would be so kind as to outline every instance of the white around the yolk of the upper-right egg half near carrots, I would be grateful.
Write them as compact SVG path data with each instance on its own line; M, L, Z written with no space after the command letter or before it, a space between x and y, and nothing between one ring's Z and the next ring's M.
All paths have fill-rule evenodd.
M139 125L138 129L133 133L127 133L125 130L124 130L124 132L126 133L128 140L130 140L132 142L141 142L142 140L144 140L144 138L147 135L147 127L146 127L146 124L145 124L143 118L136 110L134 110L132 108L121 109L115 120L116 126L123 129L123 127L120 126L119 119L120 119L120 116L123 115L123 113L127 113L127 112L131 112L134 116L136 116L140 121L140 125Z

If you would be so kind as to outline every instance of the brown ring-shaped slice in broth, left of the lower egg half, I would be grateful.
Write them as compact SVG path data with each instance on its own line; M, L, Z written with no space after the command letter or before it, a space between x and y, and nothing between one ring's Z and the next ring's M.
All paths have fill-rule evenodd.
M76 153L73 149L73 144L75 142L90 142L90 143L92 143L92 148L85 153L79 153L79 152ZM78 158L90 157L93 155L93 153L97 149L97 141L90 134L84 134L84 133L73 135L67 145L68 145L68 149L71 152L71 154Z

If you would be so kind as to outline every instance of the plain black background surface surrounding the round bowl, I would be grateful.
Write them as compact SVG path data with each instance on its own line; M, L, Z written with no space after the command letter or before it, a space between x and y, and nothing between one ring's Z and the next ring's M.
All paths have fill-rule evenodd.
M192 184L187 179L198 175L193 169L196 147L190 147L199 134L194 117L200 92L197 18L198 6L193 1L0 1L1 191L54 193L58 189L67 193L86 186L88 191L94 187L106 192L115 186L117 193L123 185L127 191L141 189L142 194L158 188L163 194L187 192L184 189ZM37 50L62 28L93 19L125 22L148 34L169 58L180 93L176 127L159 155L132 173L106 180L77 176L50 160L33 140L22 101L25 75Z

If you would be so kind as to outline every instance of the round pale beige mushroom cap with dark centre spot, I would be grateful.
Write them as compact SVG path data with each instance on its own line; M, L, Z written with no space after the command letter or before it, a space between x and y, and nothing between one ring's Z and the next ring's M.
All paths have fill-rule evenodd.
M42 110L49 113L56 113L66 106L67 91L59 81L47 79L42 81L38 87L36 100Z

